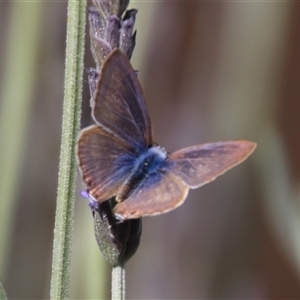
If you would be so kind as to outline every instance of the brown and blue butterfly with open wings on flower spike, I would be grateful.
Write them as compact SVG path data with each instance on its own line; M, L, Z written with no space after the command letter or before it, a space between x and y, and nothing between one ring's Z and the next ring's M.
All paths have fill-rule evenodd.
M93 201L115 197L113 212L120 221L175 209L189 189L211 182L256 147L246 140L226 141L168 154L153 142L137 74L118 49L103 64L91 105L95 125L79 134L79 169Z

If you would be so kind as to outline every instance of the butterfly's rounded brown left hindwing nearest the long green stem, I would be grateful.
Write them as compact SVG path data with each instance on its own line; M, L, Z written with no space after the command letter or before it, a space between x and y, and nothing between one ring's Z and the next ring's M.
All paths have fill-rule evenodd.
M97 202L115 196L128 176L134 155L98 126L83 129L77 141L77 159L87 190Z

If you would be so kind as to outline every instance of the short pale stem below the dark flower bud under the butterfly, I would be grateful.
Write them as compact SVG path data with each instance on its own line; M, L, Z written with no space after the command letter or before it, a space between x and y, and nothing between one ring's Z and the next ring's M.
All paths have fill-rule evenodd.
M125 268L124 265L112 269L111 299L125 300Z

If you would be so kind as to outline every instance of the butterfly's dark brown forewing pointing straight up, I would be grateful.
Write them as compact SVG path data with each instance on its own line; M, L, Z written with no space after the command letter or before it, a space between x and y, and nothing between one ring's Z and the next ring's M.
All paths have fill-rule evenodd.
M137 75L118 49L101 70L92 115L99 126L132 149L141 151L152 144L150 117Z

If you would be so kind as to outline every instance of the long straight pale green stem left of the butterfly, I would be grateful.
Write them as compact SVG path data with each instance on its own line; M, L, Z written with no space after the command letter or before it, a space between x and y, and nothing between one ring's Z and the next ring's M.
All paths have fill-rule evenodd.
M54 229L51 299L69 292L72 226L76 177L75 147L80 124L86 0L69 0L65 96Z

